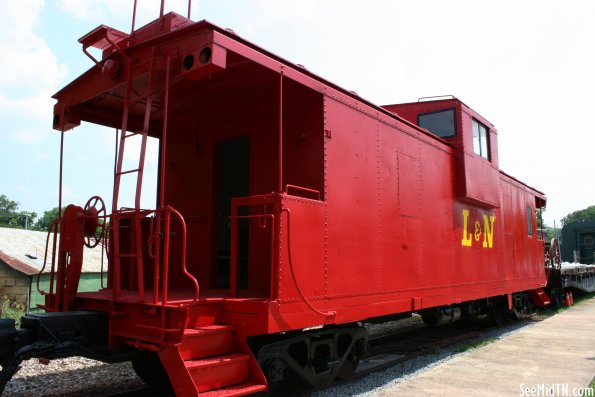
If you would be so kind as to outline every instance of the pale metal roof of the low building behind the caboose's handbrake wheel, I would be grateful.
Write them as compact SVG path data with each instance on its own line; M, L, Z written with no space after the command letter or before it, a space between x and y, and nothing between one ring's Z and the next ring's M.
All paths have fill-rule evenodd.
M43 268L47 236L47 232L0 228L0 261L29 276L39 273ZM84 248L83 273L99 273L101 271L101 247L100 244L93 249ZM50 271L51 239L48 251L48 264L44 273ZM107 260L104 259L104 261L104 269L107 269Z

